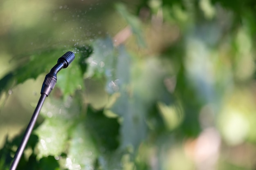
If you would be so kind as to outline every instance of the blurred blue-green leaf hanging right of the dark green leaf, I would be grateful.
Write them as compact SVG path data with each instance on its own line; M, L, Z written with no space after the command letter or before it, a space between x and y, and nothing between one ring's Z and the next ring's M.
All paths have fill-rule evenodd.
M131 98L128 93L122 92L111 110L122 119L120 148L133 152L146 137L144 105L139 98Z

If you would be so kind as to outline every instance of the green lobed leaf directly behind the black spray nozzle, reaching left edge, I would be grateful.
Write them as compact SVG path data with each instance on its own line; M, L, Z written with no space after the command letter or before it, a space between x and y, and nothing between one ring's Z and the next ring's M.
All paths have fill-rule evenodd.
M61 89L64 98L83 87L83 72L86 70L86 65L83 64L82 60L85 60L92 52L89 47L79 47L76 50L78 51L77 59L70 64L68 69L63 69L57 75L56 86ZM20 84L29 78L36 79L42 73L49 73L50 69L57 63L58 58L64 53L63 49L51 49L30 55L29 59L21 66L0 79L0 93L9 90L15 80L16 84ZM25 57L21 59L25 59Z

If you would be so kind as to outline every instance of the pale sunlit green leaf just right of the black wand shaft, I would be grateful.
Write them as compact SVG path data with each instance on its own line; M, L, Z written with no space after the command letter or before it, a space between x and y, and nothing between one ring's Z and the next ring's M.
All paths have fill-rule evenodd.
M78 104L76 99L72 98L65 102L47 98L41 110L45 121L35 130L39 138L36 146L38 158L58 156L66 151L69 132L80 115Z

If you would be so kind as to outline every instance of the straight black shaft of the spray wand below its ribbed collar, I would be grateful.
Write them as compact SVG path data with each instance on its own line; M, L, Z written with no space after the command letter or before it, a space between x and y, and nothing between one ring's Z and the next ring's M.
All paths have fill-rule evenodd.
M16 154L15 154L15 156L14 156L14 159L13 159L13 162L12 162L12 164L11 164L10 170L16 170L16 168L17 168L17 166L18 166L18 163L19 163L19 161L20 161L20 158L21 158L21 156L22 156L22 153L23 153L23 151L25 150L25 147L26 147L26 145L27 145L27 141L29 140L29 137L30 137L30 135L31 135L31 132L32 132L32 130L33 130L35 124L36 124L36 119L37 119L37 117L38 117L38 115L39 115L39 113L40 113L40 110L41 110L41 108L42 108L42 106L43 106L43 103L44 103L46 97L47 97L47 95L41 94L41 97L40 97L40 99L39 99L39 101L38 101L38 104L37 104L37 106L36 106L36 109L35 109L35 111L34 111L32 117L31 117L31 120L30 120L30 122L29 122L29 125L27 126L27 129L26 129L26 131L25 131L25 134L24 134L24 137L23 137L23 139L22 139L22 141L21 141L21 144L20 144L19 148L18 148L17 151L16 151Z

